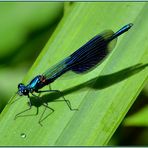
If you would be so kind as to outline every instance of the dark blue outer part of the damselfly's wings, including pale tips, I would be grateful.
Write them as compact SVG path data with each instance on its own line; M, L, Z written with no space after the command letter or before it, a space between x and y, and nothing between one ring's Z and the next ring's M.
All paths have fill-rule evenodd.
M69 60L66 61L69 70L83 73L100 64L109 51L115 47L116 39L108 41L113 34L111 30L104 31L71 54Z

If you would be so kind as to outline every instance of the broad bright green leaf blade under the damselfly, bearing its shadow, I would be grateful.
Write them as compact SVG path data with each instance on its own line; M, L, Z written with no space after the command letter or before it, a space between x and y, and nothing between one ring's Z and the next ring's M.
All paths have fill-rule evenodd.
M43 121L43 127L37 123L43 107L38 116L13 120L27 107L27 97L22 97L8 104L0 116L0 144L107 145L147 80L147 10L144 2L75 3L26 75L25 84L97 33L105 29L117 31L131 22L134 26L119 37L116 48L101 66L88 74L52 83L52 89L63 91L78 111L70 111L65 102L50 102L52 96L62 98L46 94L55 112ZM33 107L28 114L35 112Z

